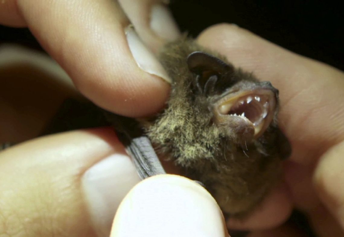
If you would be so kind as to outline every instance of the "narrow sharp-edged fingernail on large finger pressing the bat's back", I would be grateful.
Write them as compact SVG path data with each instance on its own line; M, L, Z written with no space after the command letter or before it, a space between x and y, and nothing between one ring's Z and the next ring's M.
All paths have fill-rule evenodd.
M127 26L125 33L131 54L139 68L145 72L159 76L166 82L171 83L171 79L167 72L154 54L143 44L140 37L136 34L134 27L132 25Z

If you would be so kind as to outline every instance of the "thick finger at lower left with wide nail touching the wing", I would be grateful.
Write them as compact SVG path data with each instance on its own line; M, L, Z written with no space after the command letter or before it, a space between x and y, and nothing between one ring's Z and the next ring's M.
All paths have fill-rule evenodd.
M109 236L139 178L111 129L61 133L0 152L0 235Z

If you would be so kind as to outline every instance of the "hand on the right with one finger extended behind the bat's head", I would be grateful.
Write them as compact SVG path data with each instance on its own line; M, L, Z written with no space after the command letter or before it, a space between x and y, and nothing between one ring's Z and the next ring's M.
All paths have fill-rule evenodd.
M271 194L257 210L257 214L266 213L264 218L253 214L244 222L229 220L228 225L240 229L272 228L293 205L309 217L319 236L344 236L343 72L293 54L236 26L209 28L198 42L222 52L235 66L252 71L279 88L279 125L293 149L284 164L285 186L273 191L275 196ZM283 226L250 236L295 236L294 231Z

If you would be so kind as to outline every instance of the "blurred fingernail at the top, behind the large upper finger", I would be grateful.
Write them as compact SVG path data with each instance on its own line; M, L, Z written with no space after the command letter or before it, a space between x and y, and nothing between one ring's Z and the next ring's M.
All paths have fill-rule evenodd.
M163 39L172 41L180 37L180 31L169 9L163 4L151 8L151 29Z

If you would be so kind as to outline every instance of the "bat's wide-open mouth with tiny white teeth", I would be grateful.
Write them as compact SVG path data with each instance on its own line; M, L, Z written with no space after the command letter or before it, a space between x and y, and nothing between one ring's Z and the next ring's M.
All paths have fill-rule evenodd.
M224 96L215 103L214 114L215 120L220 123L226 122L241 127L238 131L251 130L251 137L256 139L270 125L276 107L276 93L269 89L258 88ZM245 127L246 129L243 129Z

